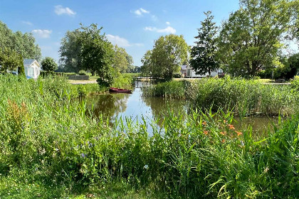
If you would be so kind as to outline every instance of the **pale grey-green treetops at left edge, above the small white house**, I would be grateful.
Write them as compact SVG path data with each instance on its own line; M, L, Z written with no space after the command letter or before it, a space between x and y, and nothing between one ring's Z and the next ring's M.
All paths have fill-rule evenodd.
M41 59L41 48L35 43L31 33L11 31L5 23L0 21L0 48L9 48L22 55L25 59Z

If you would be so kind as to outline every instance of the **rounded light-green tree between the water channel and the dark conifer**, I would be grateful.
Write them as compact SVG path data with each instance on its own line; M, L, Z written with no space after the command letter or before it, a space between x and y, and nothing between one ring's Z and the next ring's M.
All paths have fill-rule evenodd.
M187 62L189 46L183 36L170 34L161 36L154 43L151 53L144 58L145 67L152 77L164 77L169 80L174 72L179 72L182 63ZM145 68L144 67L144 68Z

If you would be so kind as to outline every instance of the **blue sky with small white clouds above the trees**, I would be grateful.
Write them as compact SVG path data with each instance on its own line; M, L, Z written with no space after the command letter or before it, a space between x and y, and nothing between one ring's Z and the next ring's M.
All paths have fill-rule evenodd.
M193 45L204 11L212 11L220 26L237 9L238 0L0 0L0 21L13 31L33 33L42 56L56 61L66 31L97 23L140 66L159 36L183 35Z

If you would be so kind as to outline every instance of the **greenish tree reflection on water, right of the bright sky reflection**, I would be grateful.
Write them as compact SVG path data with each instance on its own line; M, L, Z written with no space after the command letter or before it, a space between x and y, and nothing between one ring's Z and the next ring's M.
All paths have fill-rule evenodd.
M185 113L186 102L177 99L164 99L162 97L143 97L143 101L152 109L152 116L155 120L159 119L159 123L164 117L169 116L169 112L174 115Z

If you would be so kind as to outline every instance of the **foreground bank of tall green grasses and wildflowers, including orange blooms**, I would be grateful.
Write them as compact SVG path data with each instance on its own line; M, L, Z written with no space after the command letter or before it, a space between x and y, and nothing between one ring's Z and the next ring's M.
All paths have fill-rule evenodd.
M0 85L1 198L299 196L299 117L259 141L221 111L169 113L162 130L130 119L116 128L87 117L63 82L0 76Z

